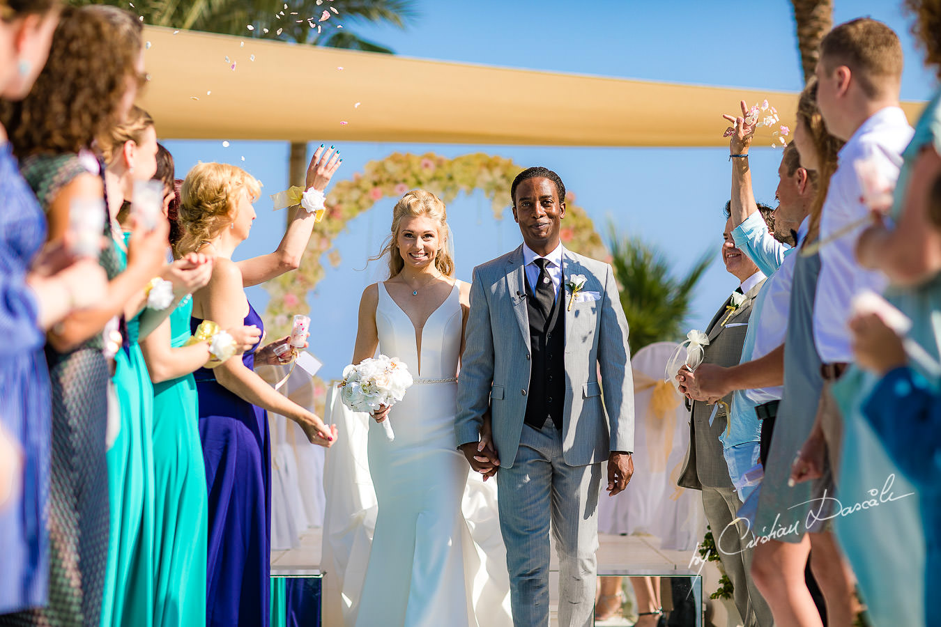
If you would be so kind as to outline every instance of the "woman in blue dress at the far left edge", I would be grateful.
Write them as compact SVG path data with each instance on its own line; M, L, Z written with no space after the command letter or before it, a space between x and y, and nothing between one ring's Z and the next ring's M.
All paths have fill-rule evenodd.
M0 97L23 99L58 22L55 0L0 2ZM104 294L94 259L42 249L46 222L0 126L0 615L45 605L50 383L45 332ZM0 621L3 618L0 617Z

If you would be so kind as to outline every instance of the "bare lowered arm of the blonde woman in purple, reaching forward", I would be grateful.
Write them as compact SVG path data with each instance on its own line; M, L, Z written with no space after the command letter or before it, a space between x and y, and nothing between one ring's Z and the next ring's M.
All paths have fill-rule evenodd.
M247 313L242 274L230 259L215 259L209 285L194 297L198 299L196 305L201 306L204 318L215 321L223 329L241 324ZM312 444L329 447L336 439L335 428L328 429L317 415L279 394L254 370L248 369L241 359L229 359L215 368L215 378L240 399L294 420Z

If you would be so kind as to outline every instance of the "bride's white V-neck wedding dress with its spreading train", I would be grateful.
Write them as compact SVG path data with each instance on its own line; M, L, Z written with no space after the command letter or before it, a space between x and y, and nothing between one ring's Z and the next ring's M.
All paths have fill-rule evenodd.
M371 522L372 494L363 495L363 469L355 460L330 459L333 450L327 455L332 467L327 468L325 566L327 579L338 575L333 586L342 588L335 596L343 602L343 622L360 627L510 625L496 481L485 484L476 475L469 481L470 466L455 447L459 290L455 286L425 322L421 355L407 314L382 283L378 290L379 352L404 361L415 384L391 409L394 441L368 420L369 475L378 505L368 564L362 564L362 528ZM364 414L353 414L339 400L331 414L333 422L342 415L354 426L354 437L358 431L361 436L356 416ZM346 450L354 458L361 453ZM347 490L356 486L352 496L336 494L344 484ZM357 503L361 511L355 511ZM363 568L364 579L359 579ZM333 602L325 598L325 603ZM325 606L325 620L330 613Z

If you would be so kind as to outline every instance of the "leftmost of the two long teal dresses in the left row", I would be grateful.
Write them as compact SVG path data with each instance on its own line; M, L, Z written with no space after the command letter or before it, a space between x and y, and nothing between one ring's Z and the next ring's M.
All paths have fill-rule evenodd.
M125 241L127 237L125 236ZM122 268L127 257L119 249ZM127 321L112 377L120 431L107 451L111 535L102 603L103 627L151 627L153 559L153 385L137 343L140 315Z

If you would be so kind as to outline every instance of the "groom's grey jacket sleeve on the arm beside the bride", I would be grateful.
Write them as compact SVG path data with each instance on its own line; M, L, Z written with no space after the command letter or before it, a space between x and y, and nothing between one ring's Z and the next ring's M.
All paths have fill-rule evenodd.
M470 283L470 312L465 330L464 353L461 354L461 372L457 381L455 416L457 446L473 443L471 457L477 450L480 427L490 406L493 358L489 302L479 269L474 269Z

